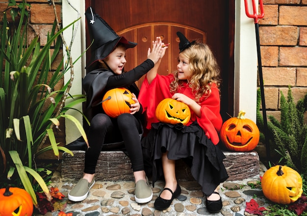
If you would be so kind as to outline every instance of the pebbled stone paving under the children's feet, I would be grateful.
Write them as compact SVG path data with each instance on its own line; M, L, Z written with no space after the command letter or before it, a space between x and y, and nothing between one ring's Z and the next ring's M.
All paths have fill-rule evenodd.
M260 175L266 170L260 163L260 174L241 181L221 183L219 193L223 201L220 213L210 214L205 208L205 197L196 181L179 181L181 195L173 200L171 206L164 211L153 208L154 200L163 190L164 182L158 181L153 188L153 199L146 204L134 201L134 182L132 181L96 181L87 198L81 202L68 200L68 192L77 181L62 182L60 173L55 172L51 178L51 186L58 187L65 195L67 206L65 213L73 216L252 216L245 212L246 202L254 198L259 206L266 207L266 199L259 189ZM58 216L59 212L47 213L45 216ZM38 216L38 215L37 215Z

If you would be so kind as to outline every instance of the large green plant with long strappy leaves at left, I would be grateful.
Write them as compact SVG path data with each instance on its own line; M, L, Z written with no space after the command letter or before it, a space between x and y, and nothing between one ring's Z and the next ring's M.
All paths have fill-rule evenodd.
M33 190L37 184L48 198L51 199L51 195L39 174L42 169L37 168L34 163L35 156L50 150L57 157L59 150L72 154L56 143L53 125L56 128L59 126L59 118L73 121L87 142L81 124L74 116L65 114L68 109L84 102L85 96L69 95L73 81L73 63L70 50L61 37L62 32L69 26L74 26L77 21L65 28L58 28L57 32L58 25L54 22L44 46L40 45L38 37L27 44L27 7L30 5L25 0L19 4L10 0L0 26L0 183L23 186L37 206ZM7 21L8 11L13 11L12 23ZM15 22L16 15L19 16L18 22ZM62 44L66 47L69 61L64 62L63 57L57 69L51 71L51 64ZM72 79L55 90L55 85L58 85L69 70ZM69 97L73 100L64 106ZM47 137L51 145L42 149Z

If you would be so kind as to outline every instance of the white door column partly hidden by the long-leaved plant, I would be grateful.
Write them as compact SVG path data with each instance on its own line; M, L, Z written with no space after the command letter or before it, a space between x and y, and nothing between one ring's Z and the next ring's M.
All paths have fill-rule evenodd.
M70 4L77 9L77 11L68 3L67 0L62 1L62 22L63 26L67 26L70 23L74 22L75 20L78 19L78 16L81 16L81 20L78 23L75 23L75 27L69 27L63 32L64 39L69 46L72 40L72 35L73 35L73 30L75 31L77 28L77 34L74 38L73 45L71 47L71 56L73 59L73 62L81 56L82 52L85 50L85 1L84 0L69 0ZM64 56L66 56L66 51L65 47L63 47L63 53ZM82 59L79 59L75 64L74 64L74 80L72 87L69 91L71 95L77 95L77 94L82 94L82 77L84 77L85 74L85 55L83 55ZM70 71L67 71L65 76L64 76L64 82L67 83L71 77ZM68 102L68 100L67 100ZM82 105L79 104L76 106L78 110L82 112ZM73 115L76 117L80 123L82 124L82 115L75 111L75 110L70 110L67 111L67 114ZM66 143L70 143L76 138L80 136L80 133L78 132L76 126L74 123L72 123L70 120L65 121L65 134L66 134Z

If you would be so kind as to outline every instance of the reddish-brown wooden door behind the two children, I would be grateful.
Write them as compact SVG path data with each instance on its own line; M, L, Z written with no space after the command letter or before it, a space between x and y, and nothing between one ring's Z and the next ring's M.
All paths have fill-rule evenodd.
M147 50L156 36L171 43L159 74L176 70L179 54L177 31L189 41L207 43L221 67L221 114L233 113L234 0L86 0L120 36L136 42L127 50L126 70L147 59ZM90 44L87 35L87 45ZM137 85L140 87L144 77Z

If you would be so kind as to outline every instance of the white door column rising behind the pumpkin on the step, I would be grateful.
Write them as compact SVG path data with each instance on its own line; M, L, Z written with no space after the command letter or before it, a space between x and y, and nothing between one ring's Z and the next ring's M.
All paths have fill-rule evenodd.
M252 0L248 0L253 13ZM256 5L258 1L256 0ZM246 111L246 118L256 122L257 47L254 19L245 14L244 0L235 1L234 34L234 113Z

